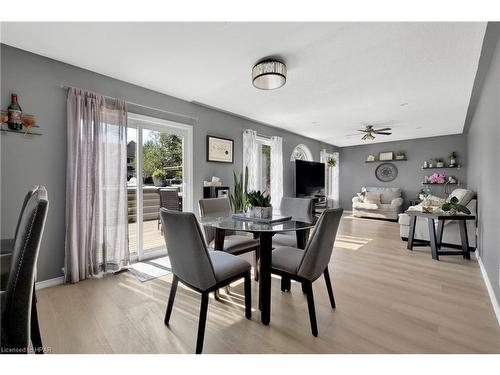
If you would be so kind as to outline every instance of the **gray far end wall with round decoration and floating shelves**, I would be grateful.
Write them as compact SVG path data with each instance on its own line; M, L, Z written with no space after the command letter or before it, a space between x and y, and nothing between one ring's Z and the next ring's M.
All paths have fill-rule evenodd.
M378 157L383 151L406 151L408 161L395 161L398 176L391 182L380 182L375 177L375 169L380 163L365 163L369 154ZM436 169L422 171L425 160L443 158L455 151L460 169ZM446 175L455 176L460 183L466 185L467 177L467 141L462 134L442 137L420 138L408 141L372 143L361 146L342 147L340 151L340 203L344 210L352 209L351 199L362 186L400 187L403 190L405 204L417 197L422 188L420 184L425 175L443 171ZM431 186L435 195L443 195L444 187ZM449 188L452 188L451 186Z

